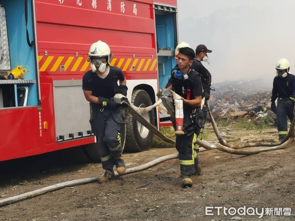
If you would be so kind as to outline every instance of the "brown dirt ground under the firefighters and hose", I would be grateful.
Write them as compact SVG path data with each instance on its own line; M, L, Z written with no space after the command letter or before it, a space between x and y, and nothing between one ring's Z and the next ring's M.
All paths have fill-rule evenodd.
M180 187L179 163L173 159L106 184L64 188L0 207L0 221L294 220L294 150L295 142L286 149L249 156L209 150L200 153L203 172L192 178L191 188ZM130 168L174 153L175 148L152 148L123 157ZM57 151L0 163L0 200L104 172L100 164L69 159L68 151ZM217 208L209 207L222 208L218 215ZM234 209L232 215L223 212L231 207L236 214ZM252 210L243 214L251 208L259 213L264 209L264 214L270 208L276 215L259 218Z

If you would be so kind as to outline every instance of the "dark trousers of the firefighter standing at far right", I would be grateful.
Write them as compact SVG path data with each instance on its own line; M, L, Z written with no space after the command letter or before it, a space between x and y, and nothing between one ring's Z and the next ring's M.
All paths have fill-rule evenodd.
M290 109L287 106L287 101L290 100L289 97L278 98L277 100L277 122L278 122L278 134L279 139L283 139L288 134L287 116L292 121L294 118L294 107Z

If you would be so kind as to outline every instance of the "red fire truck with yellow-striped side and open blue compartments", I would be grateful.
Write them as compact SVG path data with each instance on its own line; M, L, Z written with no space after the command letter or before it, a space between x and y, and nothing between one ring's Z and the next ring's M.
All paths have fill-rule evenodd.
M0 161L75 146L98 160L82 91L89 46L110 46L129 101L155 103L175 65L177 0L0 0L0 37ZM157 111L144 116L159 127ZM132 151L153 137L131 115L123 134Z

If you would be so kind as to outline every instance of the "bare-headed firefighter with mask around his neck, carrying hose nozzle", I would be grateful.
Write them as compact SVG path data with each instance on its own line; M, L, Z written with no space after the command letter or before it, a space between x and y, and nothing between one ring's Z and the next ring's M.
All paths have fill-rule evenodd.
M184 135L176 137L176 149L182 175L182 185L191 187L191 175L196 173L199 165L198 150L195 142L203 128L204 114L201 110L202 82L198 72L190 69L195 52L189 47L179 48L177 56L177 69L171 76L171 85L168 89L174 90L183 101L183 132ZM175 130L175 119L171 119Z

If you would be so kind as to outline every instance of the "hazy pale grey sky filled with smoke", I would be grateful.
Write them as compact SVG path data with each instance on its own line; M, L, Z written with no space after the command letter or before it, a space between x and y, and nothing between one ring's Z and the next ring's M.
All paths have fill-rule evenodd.
M179 42L213 52L212 83L263 78L287 58L295 73L295 0L177 0Z

